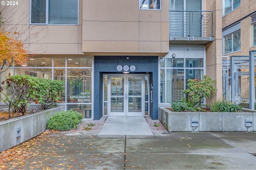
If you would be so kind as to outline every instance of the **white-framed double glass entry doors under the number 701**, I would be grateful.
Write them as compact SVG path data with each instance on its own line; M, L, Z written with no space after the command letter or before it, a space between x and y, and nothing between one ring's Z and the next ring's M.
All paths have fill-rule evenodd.
M108 115L144 115L144 88L144 75L109 74Z

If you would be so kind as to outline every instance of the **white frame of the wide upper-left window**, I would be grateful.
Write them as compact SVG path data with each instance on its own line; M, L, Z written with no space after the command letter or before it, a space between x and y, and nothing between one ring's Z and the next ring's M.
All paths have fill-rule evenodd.
M60 24L60 23L49 23L49 0L46 0L46 9L45 9L45 23L32 23L31 22L31 18L32 18L32 0L30 0L30 13L29 13L29 23L30 23L30 25L79 25L79 0L77 0L78 1L78 7L77 7L77 9L78 9L78 16L77 16L77 23L75 23L75 24L71 24L71 23L67 23L67 24L65 24L65 23L62 23L62 24Z

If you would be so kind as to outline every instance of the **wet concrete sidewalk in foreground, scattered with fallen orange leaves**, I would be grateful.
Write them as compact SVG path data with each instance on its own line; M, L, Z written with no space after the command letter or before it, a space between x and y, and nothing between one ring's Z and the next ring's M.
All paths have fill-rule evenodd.
M9 168L256 169L256 133L51 134L22 150L33 156Z

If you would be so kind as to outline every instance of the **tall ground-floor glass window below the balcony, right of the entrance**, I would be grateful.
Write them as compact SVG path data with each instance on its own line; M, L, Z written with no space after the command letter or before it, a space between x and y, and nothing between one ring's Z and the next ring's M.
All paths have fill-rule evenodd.
M180 53L182 54L182 53ZM160 103L170 104L185 97L183 90L188 79L202 79L204 75L204 57L167 55L160 59Z

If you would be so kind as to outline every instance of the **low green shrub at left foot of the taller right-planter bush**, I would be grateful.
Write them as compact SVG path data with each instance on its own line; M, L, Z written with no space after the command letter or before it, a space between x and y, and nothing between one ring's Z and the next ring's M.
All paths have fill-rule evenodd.
M171 106L173 111L196 111L196 109L194 109L194 107L191 105L190 101L188 101L186 98L172 102Z

